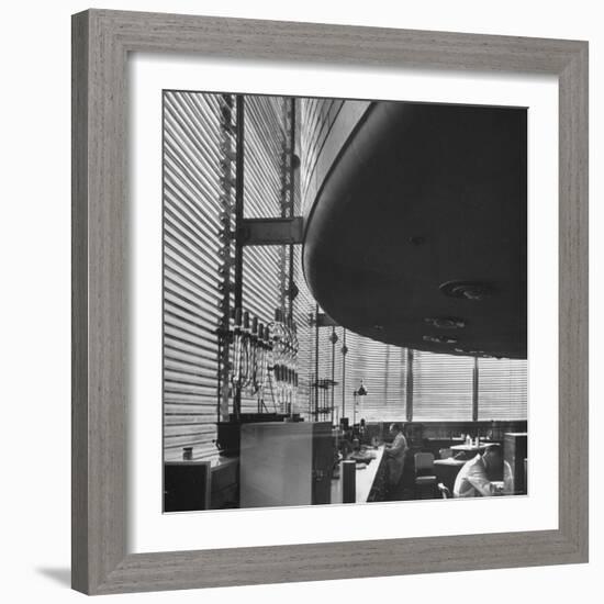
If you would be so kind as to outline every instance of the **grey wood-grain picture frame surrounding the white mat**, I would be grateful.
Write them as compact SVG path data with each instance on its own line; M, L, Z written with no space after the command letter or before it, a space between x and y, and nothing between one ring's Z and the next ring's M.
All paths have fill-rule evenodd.
M131 52L559 78L559 528L127 553ZM588 43L91 10L72 18L72 586L90 594L588 561ZM200 544L201 546L202 544Z

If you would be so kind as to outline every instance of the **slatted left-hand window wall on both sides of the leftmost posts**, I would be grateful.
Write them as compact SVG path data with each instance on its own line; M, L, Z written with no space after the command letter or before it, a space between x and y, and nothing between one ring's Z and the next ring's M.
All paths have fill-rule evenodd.
M234 195L225 180L235 182L236 149L234 98L226 99L197 92L166 92L164 97L167 460L179 459L184 446L193 447L195 459L215 452L221 199ZM283 98L245 98L246 217L281 215L289 134L286 102ZM275 309L281 304L287 254L279 247L244 250L244 310L265 324L273 320ZM244 393L242 410L256 409L256 399Z

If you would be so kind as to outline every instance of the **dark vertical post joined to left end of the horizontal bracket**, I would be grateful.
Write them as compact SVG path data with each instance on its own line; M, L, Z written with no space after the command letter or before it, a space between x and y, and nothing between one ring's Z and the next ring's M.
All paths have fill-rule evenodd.
M237 94L237 149L236 149L236 188L235 188L235 309L243 309L244 246L241 225L244 220L244 183L245 183L245 101ZM242 389L233 393L235 416L242 411Z

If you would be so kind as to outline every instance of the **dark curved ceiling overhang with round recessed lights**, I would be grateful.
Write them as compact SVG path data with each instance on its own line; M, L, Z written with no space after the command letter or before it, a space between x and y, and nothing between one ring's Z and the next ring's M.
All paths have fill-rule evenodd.
M306 221L337 323L418 350L526 358L526 110L377 102Z

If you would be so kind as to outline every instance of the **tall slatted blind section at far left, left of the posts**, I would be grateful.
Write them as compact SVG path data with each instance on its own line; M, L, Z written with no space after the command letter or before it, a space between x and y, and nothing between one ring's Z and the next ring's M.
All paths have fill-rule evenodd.
M235 148L221 94L164 93L164 450L215 450L222 148ZM222 124L222 125L221 125Z

